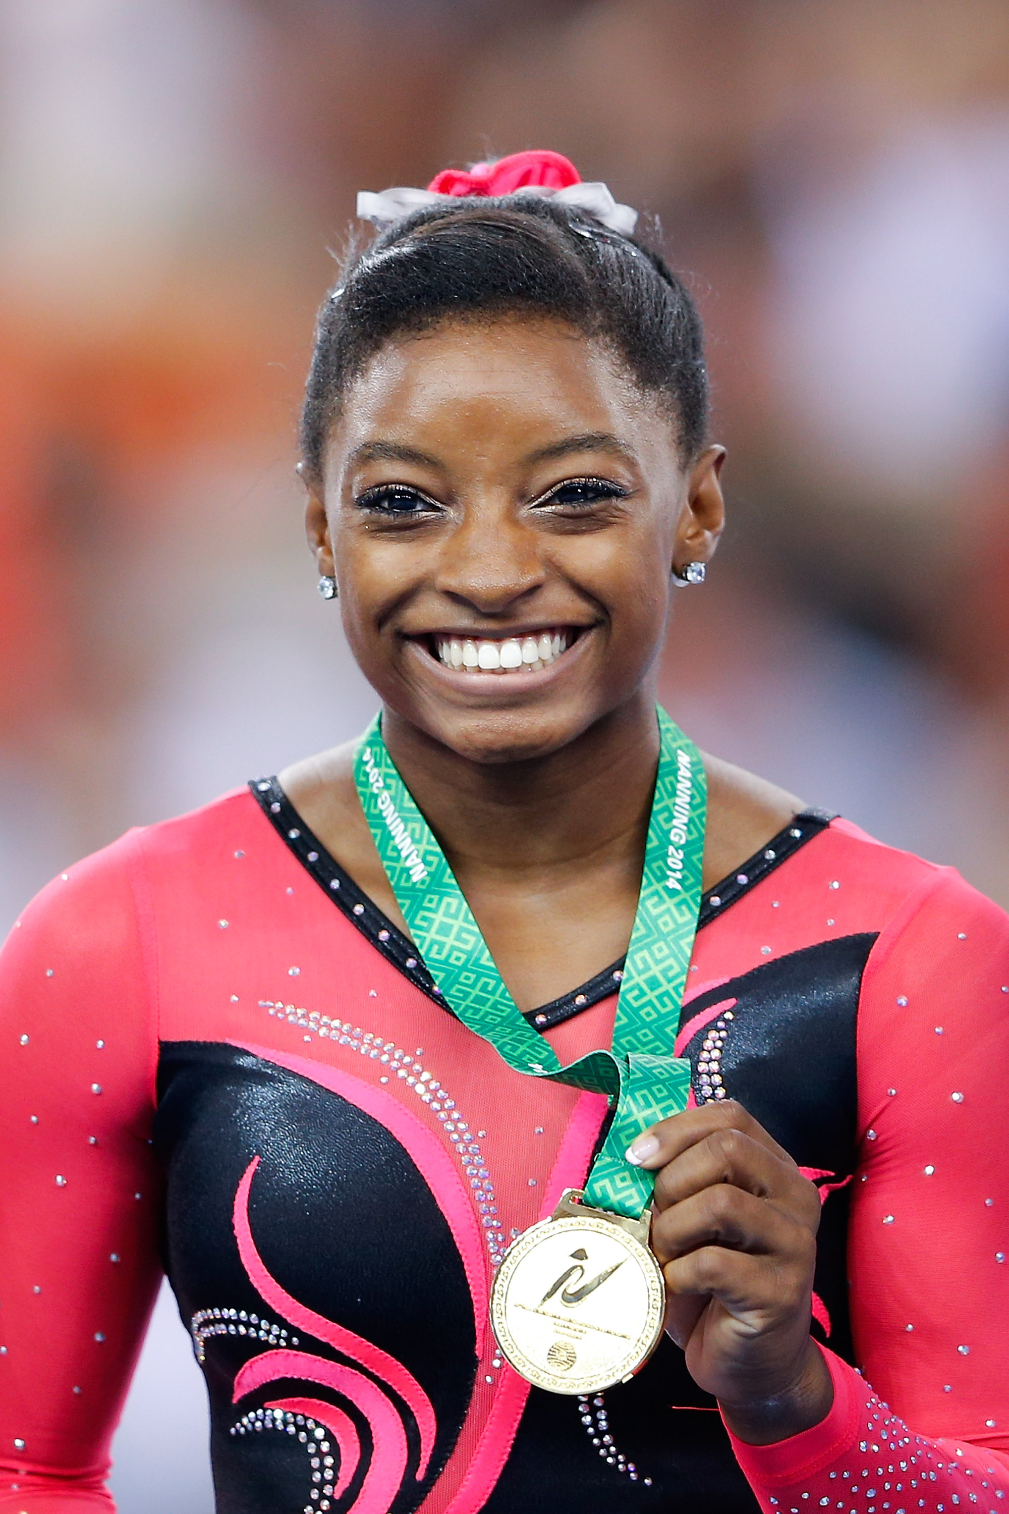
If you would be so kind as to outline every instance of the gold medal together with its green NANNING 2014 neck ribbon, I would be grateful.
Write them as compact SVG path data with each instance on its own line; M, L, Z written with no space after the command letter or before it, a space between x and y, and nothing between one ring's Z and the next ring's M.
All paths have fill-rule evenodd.
M584 1190L505 1252L490 1293L501 1352L548 1393L626 1382L658 1346L666 1284L649 1248L654 1173L631 1142L679 1114L690 1063L673 1055L697 930L706 787L693 742L657 712L660 760L641 890L623 964L613 1045L567 1067L519 1011L442 848L396 771L377 719L354 775L378 855L425 966L458 1019L516 1072L605 1093L613 1119Z

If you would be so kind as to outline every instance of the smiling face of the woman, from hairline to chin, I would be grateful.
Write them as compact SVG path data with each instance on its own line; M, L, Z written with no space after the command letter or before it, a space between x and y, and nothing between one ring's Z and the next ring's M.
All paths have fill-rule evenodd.
M307 528L383 702L473 762L567 745L650 669L673 565L722 528L720 448L608 353L505 316L389 342L345 397Z

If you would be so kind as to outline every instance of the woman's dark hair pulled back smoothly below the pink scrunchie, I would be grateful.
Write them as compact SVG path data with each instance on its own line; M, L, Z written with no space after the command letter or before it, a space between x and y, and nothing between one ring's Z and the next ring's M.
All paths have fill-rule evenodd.
M458 198L414 210L352 253L322 304L301 415L309 472L322 477L343 395L392 336L517 310L567 321L607 344L669 407L684 456L705 445L700 318L664 259L546 198Z

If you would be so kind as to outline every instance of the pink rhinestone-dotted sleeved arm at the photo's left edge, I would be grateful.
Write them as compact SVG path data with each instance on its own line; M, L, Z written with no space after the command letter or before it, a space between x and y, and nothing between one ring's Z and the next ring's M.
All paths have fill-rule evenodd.
M100 1487L157 1285L130 849L51 883L0 952L0 1506L11 1478Z

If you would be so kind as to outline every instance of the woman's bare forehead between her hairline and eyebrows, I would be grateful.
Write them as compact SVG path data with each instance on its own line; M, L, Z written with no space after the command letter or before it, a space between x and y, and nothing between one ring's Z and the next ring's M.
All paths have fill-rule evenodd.
M427 450L531 451L590 431L620 436L635 451L675 445L657 400L602 344L516 315L387 342L345 398L330 460L377 438L422 438Z

